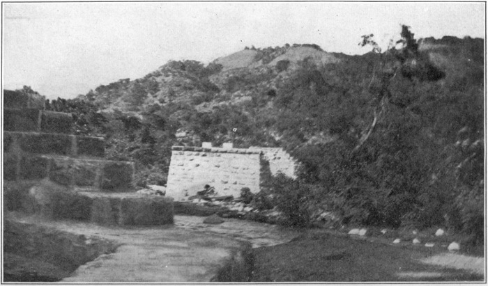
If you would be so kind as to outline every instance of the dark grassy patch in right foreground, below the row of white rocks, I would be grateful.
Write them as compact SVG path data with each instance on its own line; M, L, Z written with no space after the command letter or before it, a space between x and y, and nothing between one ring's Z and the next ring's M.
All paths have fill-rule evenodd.
M438 253L372 243L324 233L307 233L288 244L255 248L253 282L480 281L466 271L419 260Z

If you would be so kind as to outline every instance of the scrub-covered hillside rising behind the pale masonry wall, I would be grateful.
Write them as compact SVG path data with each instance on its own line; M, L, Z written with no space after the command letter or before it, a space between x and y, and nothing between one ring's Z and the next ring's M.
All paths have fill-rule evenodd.
M268 192L293 224L443 226L483 237L484 41L416 41L346 56L317 45L170 61L49 109L101 134L137 184L164 184L171 145L281 146L302 168ZM286 191L286 193L283 193ZM281 192L281 193L280 193ZM280 195L281 194L281 195Z

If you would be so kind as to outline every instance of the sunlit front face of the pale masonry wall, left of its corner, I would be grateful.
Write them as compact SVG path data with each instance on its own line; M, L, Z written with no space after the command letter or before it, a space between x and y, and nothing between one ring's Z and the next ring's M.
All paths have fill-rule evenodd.
M223 148L172 148L166 196L184 200L215 187L219 196L241 195L241 189L259 192L259 150Z

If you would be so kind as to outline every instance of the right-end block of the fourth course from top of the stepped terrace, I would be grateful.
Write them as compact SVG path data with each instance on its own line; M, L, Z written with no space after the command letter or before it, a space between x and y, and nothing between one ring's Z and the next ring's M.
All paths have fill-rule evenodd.
M107 191L132 189L134 166L129 162L109 161L102 170L101 188Z

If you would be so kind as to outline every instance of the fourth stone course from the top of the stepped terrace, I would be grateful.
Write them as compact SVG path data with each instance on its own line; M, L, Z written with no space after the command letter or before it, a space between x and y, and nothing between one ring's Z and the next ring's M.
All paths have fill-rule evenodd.
M134 164L49 155L3 157L4 180L43 180L92 191L134 191Z

